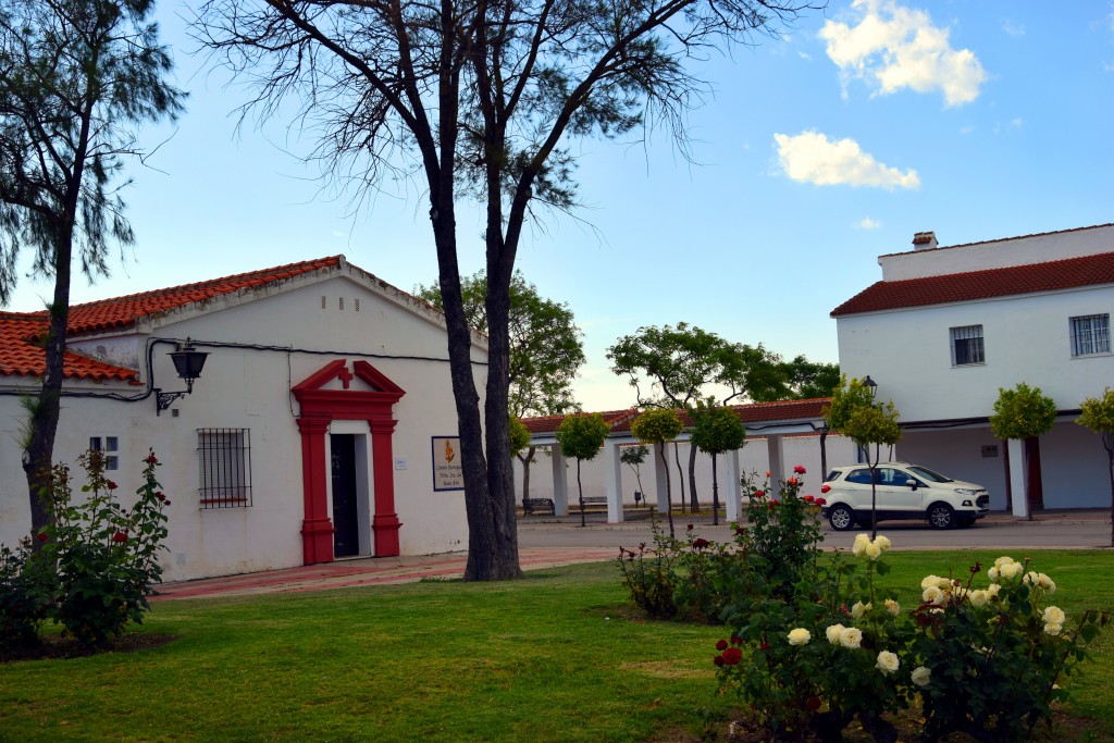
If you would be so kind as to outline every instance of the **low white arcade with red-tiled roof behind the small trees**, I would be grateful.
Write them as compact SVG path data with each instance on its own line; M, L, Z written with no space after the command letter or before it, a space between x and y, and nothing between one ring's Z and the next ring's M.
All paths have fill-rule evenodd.
M741 480L756 478L755 485L766 479L776 483L793 476L793 467L802 465L807 469L804 483L807 492L819 495L823 479L824 467L849 465L856 461L854 444L842 436L824 434L823 408L829 398L812 400L785 400L781 402L756 402L742 405L731 405L739 419L746 427L747 440L744 447L736 451L719 454L717 480L720 502L724 506L726 518L740 518L742 506ZM634 470L623 465L620 453L624 447L637 446L639 441L631 431L631 423L637 418L636 410L613 410L602 413L604 421L610 427L604 450L592 461L580 463L580 480L584 495L587 498L606 498L607 521L617 524L624 519L624 508L636 505L634 492L645 488L646 500L641 504L654 505L659 511L666 507L665 482L668 479L674 509L682 507L682 482L685 499L688 492L688 451L690 430L692 421L684 411L678 411L685 430L677 437L676 457L673 446L666 444L667 465L663 467L656 449L647 444L651 452L639 467L636 477ZM535 465L530 471L530 497L550 498L557 516L566 516L569 510L578 508L576 498L575 473L570 476L569 462L560 451L556 433L565 420L564 416L545 416L522 420L530 431L530 446L541 450L535 453ZM821 448L823 447L823 448ZM548 457L547 457L548 456ZM548 462L546 461L548 458ZM676 471L675 462L680 459L684 469L684 478ZM574 465L575 467L575 465ZM537 468L537 469L534 469ZM548 472L546 471L548 470ZM575 470L574 470L575 472ZM522 498L522 467L516 459L515 475L518 482L516 497ZM712 458L703 452L696 456L696 486L700 502L710 506L712 502ZM569 478L573 478L571 486ZM641 486L639 486L641 481Z

